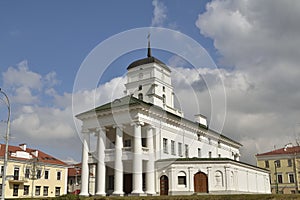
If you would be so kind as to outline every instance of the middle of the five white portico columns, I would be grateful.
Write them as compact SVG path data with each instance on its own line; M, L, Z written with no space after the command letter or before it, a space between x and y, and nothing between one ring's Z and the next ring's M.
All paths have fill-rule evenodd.
M123 130L122 127L116 127L116 141L115 141L115 188L113 195L123 196L123 162L122 162L122 148L123 148Z

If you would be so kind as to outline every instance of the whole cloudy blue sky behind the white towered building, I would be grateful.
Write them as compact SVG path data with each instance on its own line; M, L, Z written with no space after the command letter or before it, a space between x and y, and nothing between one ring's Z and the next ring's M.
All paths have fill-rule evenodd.
M94 90L79 93L73 88L82 63L116 34L162 27L192 38L217 66L191 67L182 57L153 49L172 67L176 97L187 118L195 106L209 119L214 112L218 118L210 94L225 94L222 134L243 144L242 161L255 164L257 153L297 145L299 10L300 2L292 0L0 1L0 87L11 101L9 142L79 162L72 97L80 97L86 109L95 105L86 94L96 91L96 105L122 96L127 66L145 57L146 50L120 55ZM139 37L146 47L147 35ZM191 94L192 103L186 98ZM7 111L1 98L3 136Z

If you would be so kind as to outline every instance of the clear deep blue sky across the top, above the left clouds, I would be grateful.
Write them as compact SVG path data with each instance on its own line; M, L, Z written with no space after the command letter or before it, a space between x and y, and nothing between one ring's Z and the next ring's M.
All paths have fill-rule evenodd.
M164 24L197 39L214 54L211 41L194 23L205 1L164 4ZM153 17L151 1L1 1L1 8L1 68L27 60L37 73L53 70L62 80L61 92L71 91L81 62L96 45L117 33L150 26Z

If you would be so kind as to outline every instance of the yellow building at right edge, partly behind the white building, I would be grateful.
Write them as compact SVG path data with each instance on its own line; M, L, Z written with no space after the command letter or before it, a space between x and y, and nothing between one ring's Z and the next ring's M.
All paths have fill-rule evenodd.
M257 166L270 170L272 193L299 193L300 146L256 155Z

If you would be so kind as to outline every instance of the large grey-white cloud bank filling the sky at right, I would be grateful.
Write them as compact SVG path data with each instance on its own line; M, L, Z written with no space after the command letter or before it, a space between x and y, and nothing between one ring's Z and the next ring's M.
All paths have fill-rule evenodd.
M243 158L295 144L300 109L300 2L219 1L207 4L196 26L210 37L227 94L225 133L244 143Z

